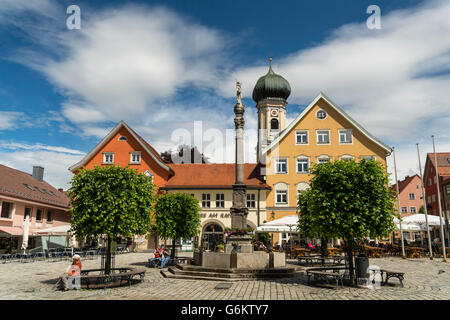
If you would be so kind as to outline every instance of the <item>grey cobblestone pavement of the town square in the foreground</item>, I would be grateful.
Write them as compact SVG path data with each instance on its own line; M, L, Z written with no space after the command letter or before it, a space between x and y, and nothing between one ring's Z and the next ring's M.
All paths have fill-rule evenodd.
M137 266L150 257L148 253L116 256L116 266ZM0 264L0 299L163 299L163 300L392 300L392 299L450 299L450 262L442 259L384 258L371 259L371 265L406 272L401 288L383 286L367 288L323 288L306 284L306 277L278 280L238 281L230 289L215 289L219 281L166 279L159 269L147 268L145 280L131 287L99 290L52 290L58 276L70 261ZM83 261L83 268L98 268L100 258ZM440 272L440 270L444 272Z

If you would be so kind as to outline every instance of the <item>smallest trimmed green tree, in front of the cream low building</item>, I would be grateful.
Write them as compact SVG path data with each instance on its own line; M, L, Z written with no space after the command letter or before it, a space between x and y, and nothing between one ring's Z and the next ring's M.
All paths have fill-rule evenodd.
M200 207L197 198L186 193L158 196L155 206L156 230L163 238L172 239L171 258L175 257L175 242L192 238L199 232Z

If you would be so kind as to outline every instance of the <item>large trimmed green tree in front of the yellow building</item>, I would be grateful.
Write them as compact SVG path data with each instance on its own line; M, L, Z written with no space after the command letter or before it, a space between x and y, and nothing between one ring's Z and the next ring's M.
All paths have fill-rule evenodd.
M307 237L341 238L354 280L353 251L365 237L395 230L395 194L388 174L375 160L340 160L311 168L311 188L298 198L299 229Z

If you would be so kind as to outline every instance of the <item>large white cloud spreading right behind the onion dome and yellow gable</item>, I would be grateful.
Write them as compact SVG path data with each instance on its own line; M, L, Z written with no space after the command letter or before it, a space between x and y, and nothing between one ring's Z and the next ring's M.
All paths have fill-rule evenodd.
M448 1L428 1L382 15L381 30L365 22L344 25L317 46L275 57L274 70L290 82L291 104L306 105L323 91L369 132L397 146L403 178L417 166L416 142L434 134L441 147L450 147L449 16ZM266 62L235 70L221 94L229 96L237 78L250 97L266 72ZM428 140L424 149L430 150Z

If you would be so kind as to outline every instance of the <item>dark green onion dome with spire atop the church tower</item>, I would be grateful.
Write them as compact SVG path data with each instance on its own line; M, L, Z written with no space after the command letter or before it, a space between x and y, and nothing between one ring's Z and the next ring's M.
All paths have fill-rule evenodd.
M287 100L291 94L289 82L272 70L272 58L270 58L269 72L256 82L253 89L253 100L256 103L265 98L282 98Z

